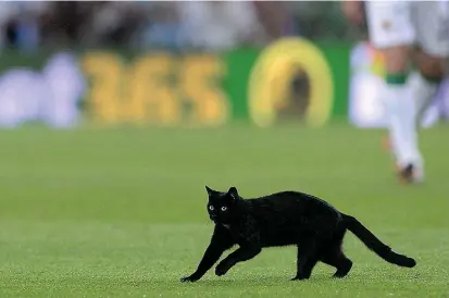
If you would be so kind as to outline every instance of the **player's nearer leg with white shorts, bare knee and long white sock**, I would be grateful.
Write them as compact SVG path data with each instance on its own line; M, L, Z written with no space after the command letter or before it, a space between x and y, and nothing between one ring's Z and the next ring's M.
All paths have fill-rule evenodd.
M367 1L370 40L385 55L384 100L389 119L389 135L404 182L413 182L415 169L422 167L414 125L415 105L408 85L410 50L415 42L410 2Z

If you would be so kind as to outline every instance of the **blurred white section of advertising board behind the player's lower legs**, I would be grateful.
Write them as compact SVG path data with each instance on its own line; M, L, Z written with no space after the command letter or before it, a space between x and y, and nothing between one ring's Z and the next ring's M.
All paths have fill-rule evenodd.
M363 128L386 127L387 117L381 94L384 74L381 53L367 42L360 42L351 50L350 65L350 122ZM441 84L433 104L426 110L422 126L429 127L445 117L449 117L449 79Z

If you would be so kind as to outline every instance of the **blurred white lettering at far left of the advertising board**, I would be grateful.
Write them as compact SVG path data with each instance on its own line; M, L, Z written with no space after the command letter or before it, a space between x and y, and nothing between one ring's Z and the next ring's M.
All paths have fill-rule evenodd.
M37 121L52 127L72 127L78 123L82 112L78 103L86 83L77 59L60 52L45 63L43 60L2 53L0 127Z

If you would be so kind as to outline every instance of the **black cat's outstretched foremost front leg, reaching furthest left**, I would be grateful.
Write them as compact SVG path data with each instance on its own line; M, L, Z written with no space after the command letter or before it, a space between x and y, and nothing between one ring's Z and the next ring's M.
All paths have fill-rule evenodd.
M197 282L198 280L200 280L205 274L205 272L208 272L213 266L213 264L219 261L223 252L233 247L233 245L234 241L228 232L215 227L211 244L204 251L204 254L200 263L198 264L197 270L191 275L180 278L180 282Z

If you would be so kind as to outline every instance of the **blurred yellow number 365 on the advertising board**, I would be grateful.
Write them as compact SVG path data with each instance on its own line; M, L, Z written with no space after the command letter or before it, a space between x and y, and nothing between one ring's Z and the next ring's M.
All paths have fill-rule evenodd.
M91 78L88 109L101 124L215 126L227 121L229 101L219 86L225 65L219 57L152 53L129 64L115 53L89 52L82 65Z

